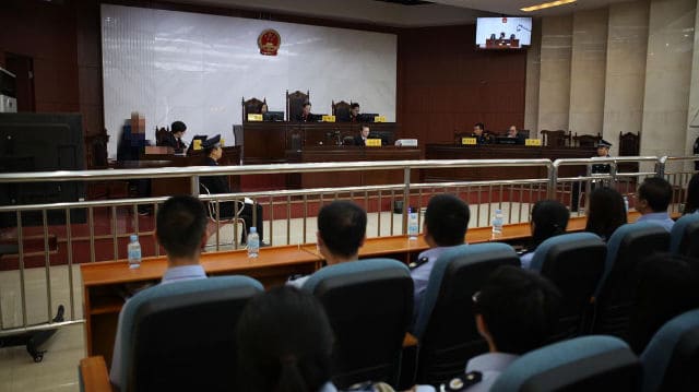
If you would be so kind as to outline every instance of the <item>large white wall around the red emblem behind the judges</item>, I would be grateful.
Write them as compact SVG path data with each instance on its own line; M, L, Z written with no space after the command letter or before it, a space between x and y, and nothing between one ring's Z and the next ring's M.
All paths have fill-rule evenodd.
M265 28L282 36L276 57L259 52ZM310 90L313 112L352 99L395 120L393 34L103 4L102 39L110 157L131 111L144 115L151 140L156 126L182 120L186 139L233 141L244 96L285 110L286 90Z

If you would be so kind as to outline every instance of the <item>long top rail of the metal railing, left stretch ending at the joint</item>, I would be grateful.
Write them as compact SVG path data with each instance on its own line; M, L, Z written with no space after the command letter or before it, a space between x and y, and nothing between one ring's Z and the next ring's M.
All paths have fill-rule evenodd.
M245 166L189 166L158 167L142 169L106 170L57 170L34 173L0 174L0 182L44 182L44 181L97 181L131 178L169 178L191 176L245 176L261 174L352 171L352 170L391 170L405 168L454 168L488 166L544 166L549 159L431 159L431 161L367 161L367 162L325 162L308 164L272 164Z

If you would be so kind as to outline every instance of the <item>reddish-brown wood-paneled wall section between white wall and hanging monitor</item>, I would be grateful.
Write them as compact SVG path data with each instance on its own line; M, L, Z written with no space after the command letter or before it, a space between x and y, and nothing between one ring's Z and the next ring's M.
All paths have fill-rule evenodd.
M475 122L503 131L524 123L525 51L478 50L475 26L399 34L398 118L403 136L452 142Z

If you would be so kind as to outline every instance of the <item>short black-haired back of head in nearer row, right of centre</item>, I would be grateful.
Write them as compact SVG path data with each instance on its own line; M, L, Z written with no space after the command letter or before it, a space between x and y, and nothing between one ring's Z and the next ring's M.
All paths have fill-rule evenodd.
M518 266L497 269L481 287L476 313L500 353L524 354L545 345L558 322L561 295L540 274Z

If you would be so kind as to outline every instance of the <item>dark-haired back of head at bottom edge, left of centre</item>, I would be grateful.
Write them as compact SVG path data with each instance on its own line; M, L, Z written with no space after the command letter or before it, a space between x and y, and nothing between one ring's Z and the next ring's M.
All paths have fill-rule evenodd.
M318 391L330 381L332 329L309 293L283 286L252 298L236 342L241 391Z

